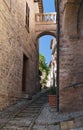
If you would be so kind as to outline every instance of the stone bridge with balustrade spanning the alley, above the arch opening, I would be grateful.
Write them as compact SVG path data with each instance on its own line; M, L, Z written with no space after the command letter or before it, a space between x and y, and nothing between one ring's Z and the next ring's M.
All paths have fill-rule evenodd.
M41 33L51 34L56 33L56 13L37 13L35 14L35 29L36 34Z

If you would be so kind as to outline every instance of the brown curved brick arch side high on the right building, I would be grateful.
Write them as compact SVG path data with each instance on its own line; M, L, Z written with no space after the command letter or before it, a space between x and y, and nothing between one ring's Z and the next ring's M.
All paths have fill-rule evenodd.
M67 0L64 9L64 32L70 37L78 34L78 12L81 0Z

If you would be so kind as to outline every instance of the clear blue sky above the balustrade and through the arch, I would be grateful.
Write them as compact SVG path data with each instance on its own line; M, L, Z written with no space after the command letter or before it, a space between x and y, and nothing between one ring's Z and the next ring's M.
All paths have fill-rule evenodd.
M54 0L43 0L44 12L55 12ZM45 35L39 39L39 53L43 54L46 58L46 63L49 64L51 61L51 49L50 41L54 37Z

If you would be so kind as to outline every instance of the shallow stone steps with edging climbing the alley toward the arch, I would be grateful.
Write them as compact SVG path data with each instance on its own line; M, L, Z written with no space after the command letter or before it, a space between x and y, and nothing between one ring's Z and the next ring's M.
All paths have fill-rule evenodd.
M27 105L26 108L15 115L13 119L9 120L1 130L30 130L46 102L48 102L47 93L30 105Z

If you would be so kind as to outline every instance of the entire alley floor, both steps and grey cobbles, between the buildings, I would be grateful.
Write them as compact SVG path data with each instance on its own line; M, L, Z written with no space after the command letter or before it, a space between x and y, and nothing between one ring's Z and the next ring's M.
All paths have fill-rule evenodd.
M83 111L56 112L49 106L48 90L43 90L0 112L0 130L83 130Z

